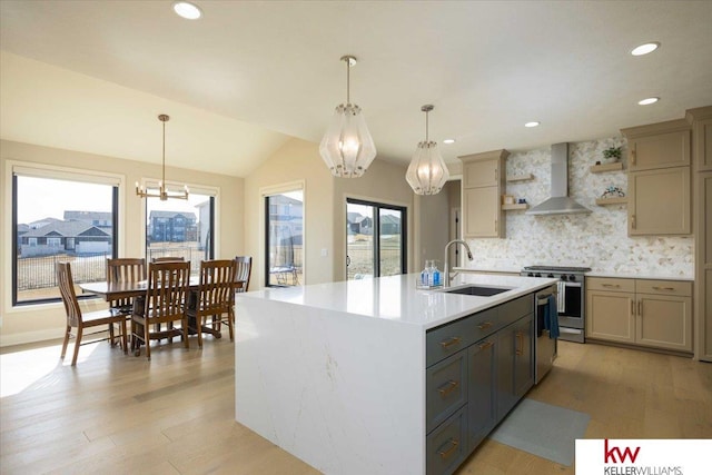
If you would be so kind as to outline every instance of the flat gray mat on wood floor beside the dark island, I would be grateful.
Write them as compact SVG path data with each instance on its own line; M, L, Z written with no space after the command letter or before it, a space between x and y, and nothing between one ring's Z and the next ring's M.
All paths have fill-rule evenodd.
M576 438L583 438L591 416L577 410L522 399L490 437L530 454L571 466Z

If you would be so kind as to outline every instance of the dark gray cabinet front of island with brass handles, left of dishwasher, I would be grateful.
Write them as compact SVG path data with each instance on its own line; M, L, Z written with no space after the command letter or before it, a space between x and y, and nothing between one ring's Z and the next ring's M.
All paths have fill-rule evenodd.
M534 384L533 296L426 334L427 474L451 474Z

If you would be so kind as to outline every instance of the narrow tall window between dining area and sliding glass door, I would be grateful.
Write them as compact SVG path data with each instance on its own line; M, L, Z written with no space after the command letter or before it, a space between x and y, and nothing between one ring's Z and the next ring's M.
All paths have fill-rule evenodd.
M304 281L304 190L265 196L265 285Z

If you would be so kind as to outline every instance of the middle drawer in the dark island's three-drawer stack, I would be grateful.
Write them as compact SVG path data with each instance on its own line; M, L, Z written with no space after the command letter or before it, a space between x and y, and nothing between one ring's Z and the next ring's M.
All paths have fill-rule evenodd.
M467 400L467 352L431 366L425 382L425 431L431 432Z

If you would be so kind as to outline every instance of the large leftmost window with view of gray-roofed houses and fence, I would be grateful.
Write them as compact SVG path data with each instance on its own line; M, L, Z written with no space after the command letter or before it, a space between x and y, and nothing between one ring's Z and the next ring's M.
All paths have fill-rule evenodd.
M13 167L13 305L60 300L58 261L71 263L75 283L106 280L106 259L117 255L118 185L89 172Z

